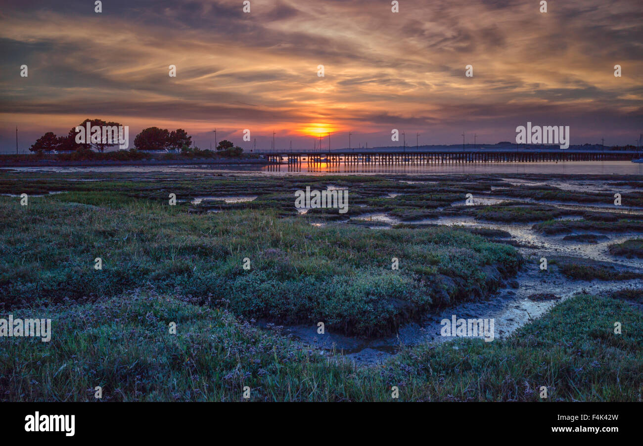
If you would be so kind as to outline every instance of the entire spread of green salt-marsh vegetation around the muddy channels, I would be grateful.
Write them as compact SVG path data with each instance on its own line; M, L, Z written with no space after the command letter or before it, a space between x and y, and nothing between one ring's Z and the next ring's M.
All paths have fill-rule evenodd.
M394 333L432 307L485 298L523 263L514 247L494 243L511 241L505 231L408 223L367 229L340 222L347 217L338 210L298 215L294 190L349 187L349 216L555 218L549 206L451 206L467 192L488 191L491 182L459 178L428 187L368 175L209 173L2 177L0 193L30 197L28 206L0 197L1 312L51 317L53 327L49 343L0 339L1 400L91 401L95 386L110 401L240 401L244 386L256 401L390 401L391 386L403 401L541 401L541 386L549 401L640 398L637 289L611 298L575 296L508 339L405 347L372 367L295 342L275 326L324 321L330 333ZM168 206L169 193L176 193L176 206ZM204 196L257 199L191 202ZM586 213L583 220L541 225L640 226L629 215L610 219ZM246 257L249 271L242 267ZM640 277L601 262L550 263L558 265L552 272L584 280ZM257 319L271 324L262 330ZM614 321L622 334L613 333ZM172 322L176 335L168 330Z

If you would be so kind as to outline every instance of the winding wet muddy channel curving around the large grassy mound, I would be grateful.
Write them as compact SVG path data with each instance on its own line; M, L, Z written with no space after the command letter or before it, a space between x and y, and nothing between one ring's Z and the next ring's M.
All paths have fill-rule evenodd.
M375 213L355 217L356 220L396 224L399 220L385 213ZM418 323L407 323L399 328L396 335L378 339L359 339L341 334L327 333L320 335L316 326L289 326L286 332L303 343L319 348L322 352L338 352L360 366L378 364L392 357L404 346L421 343L439 343L454 339L442 336L442 319L455 315L457 319L494 319L494 339L503 339L520 326L541 316L557 303L570 298L578 292L604 295L626 288L643 288L643 280L624 281L582 281L569 280L556 272L541 272L539 258L579 257L588 260L610 262L622 269L643 269L643 260L612 256L608 247L620 243L637 234L607 234L596 238L595 243L570 240L569 235L545 236L532 231L532 224L498 224L478 222L473 217L439 217L439 219L419 220L414 223L432 222L446 226L480 227L499 229L511 234L511 240L518 244L525 257L527 267L519 272L515 279L508 280L509 285L494 293L491 299L462 303L428 314ZM564 240L568 237L568 240ZM551 294L556 299L534 301L534 294Z

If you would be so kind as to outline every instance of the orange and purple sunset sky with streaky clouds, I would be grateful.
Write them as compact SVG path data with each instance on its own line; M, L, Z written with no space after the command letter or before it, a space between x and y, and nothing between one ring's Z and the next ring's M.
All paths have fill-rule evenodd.
M131 141L183 128L201 148L215 128L245 148L243 129L260 148L274 130L278 149L328 131L348 147L349 130L353 147L397 145L392 129L407 145L515 141L527 121L569 125L572 144L643 133L640 0L250 2L3 0L0 151L15 125L22 151L85 118Z

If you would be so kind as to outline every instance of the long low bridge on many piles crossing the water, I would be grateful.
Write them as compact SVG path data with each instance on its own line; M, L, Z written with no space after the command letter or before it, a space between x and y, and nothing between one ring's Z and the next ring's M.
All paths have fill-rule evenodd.
M396 152L272 152L264 154L271 164L298 165L437 165L464 163L543 163L559 161L631 161L636 152L582 151L582 150L480 150L420 152L406 150Z

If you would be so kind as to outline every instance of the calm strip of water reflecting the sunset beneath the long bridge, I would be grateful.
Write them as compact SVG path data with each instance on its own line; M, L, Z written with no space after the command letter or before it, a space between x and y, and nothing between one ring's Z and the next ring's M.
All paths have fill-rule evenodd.
M308 165L174 165L174 166L93 166L17 167L21 172L225 172L268 175L315 174L556 174L556 175L643 175L643 163L629 161L574 161L560 163L475 163L464 165L351 166Z

